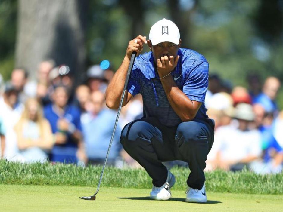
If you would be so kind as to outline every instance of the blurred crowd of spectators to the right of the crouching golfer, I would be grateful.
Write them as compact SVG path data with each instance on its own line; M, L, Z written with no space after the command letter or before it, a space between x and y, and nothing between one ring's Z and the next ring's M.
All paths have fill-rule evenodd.
M271 76L261 84L258 75L250 74L247 84L248 88L232 87L210 75L205 105L216 124L206 170L282 171L283 111L276 103L281 83Z

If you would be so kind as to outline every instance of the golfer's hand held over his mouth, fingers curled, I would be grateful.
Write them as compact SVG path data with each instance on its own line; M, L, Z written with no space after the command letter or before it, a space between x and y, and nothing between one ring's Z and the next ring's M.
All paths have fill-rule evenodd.
M170 56L168 58L167 55L164 57L161 57L160 59L157 59L157 72L159 75L159 78L163 78L166 75L169 75L173 71L173 69L177 66L179 55L174 58L174 56Z

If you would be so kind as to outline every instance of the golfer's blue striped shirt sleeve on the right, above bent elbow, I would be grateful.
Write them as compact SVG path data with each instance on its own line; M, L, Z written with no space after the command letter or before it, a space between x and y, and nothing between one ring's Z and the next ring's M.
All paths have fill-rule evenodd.
M202 62L189 71L183 92L190 100L204 103L208 87L208 63Z

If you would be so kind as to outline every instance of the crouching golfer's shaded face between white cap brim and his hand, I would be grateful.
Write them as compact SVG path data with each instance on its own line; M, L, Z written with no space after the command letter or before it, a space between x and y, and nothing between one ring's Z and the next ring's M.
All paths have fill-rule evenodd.
M164 57L165 55L167 55L168 58L172 55L174 56L174 59L175 59L175 57L177 57L178 55L178 50L180 48L180 45L181 45L181 39L178 45L171 43L171 42L162 42L162 43L159 43L153 46L151 45L151 42L148 42L148 46L153 53L155 64L157 64L158 58L160 59L161 57Z

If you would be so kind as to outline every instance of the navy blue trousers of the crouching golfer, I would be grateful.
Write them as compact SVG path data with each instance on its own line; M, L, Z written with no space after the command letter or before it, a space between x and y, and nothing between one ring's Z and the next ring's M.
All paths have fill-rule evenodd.
M207 154L214 140L214 121L187 121L176 127L166 127L154 118L142 118L127 124L121 133L125 151L152 178L154 186L162 186L167 178L164 161L188 162L191 170L187 184L201 189Z

